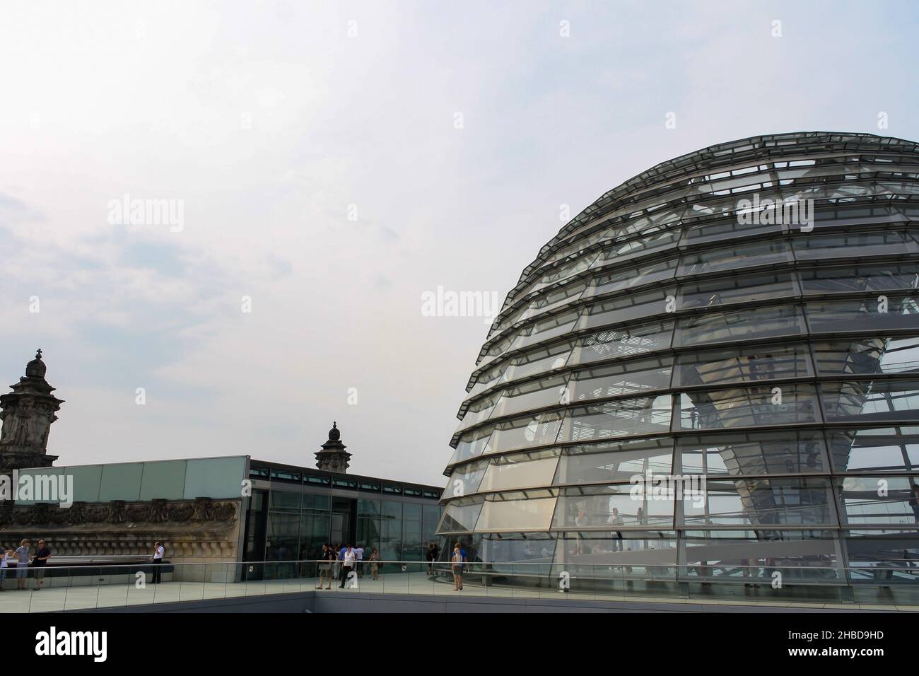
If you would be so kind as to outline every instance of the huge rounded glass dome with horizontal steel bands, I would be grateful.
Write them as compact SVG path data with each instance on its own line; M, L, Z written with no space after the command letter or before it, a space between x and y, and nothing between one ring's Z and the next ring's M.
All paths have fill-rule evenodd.
M919 564L919 146L758 136L631 178L524 269L467 392L438 533L470 561Z

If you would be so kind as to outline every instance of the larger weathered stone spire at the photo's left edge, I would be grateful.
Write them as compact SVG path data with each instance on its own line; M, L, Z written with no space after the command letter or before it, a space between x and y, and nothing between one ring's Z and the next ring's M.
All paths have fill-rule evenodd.
M45 380L47 370L38 350L26 364L26 375L10 385L13 391L0 396L0 470L50 467L57 460L48 454L48 433L63 400L51 394L54 388Z

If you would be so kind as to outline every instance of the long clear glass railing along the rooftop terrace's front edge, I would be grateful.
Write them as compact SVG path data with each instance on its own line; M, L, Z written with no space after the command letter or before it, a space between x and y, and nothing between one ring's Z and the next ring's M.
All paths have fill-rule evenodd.
M160 581L154 583L157 568ZM314 560L83 565L47 567L40 580L35 571L28 567L26 577L17 582L17 568L7 568L0 613L207 602L304 591L919 610L919 566L909 561L865 567L471 562L462 567L459 578L447 562L419 561L362 561L357 567ZM19 585L26 589L17 589Z

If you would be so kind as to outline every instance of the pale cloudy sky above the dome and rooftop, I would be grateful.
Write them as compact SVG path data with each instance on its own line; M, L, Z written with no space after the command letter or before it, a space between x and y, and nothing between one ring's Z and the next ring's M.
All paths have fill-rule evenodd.
M425 294L503 300L566 211L710 144L919 139L914 2L0 17L0 379L43 350L57 464L312 466L335 420L350 472L441 486L488 325Z

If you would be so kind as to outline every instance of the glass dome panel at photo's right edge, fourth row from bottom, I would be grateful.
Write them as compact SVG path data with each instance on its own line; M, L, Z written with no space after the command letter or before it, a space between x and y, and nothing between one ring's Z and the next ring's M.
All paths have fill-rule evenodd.
M845 381L824 383L827 420L919 418L919 381Z

